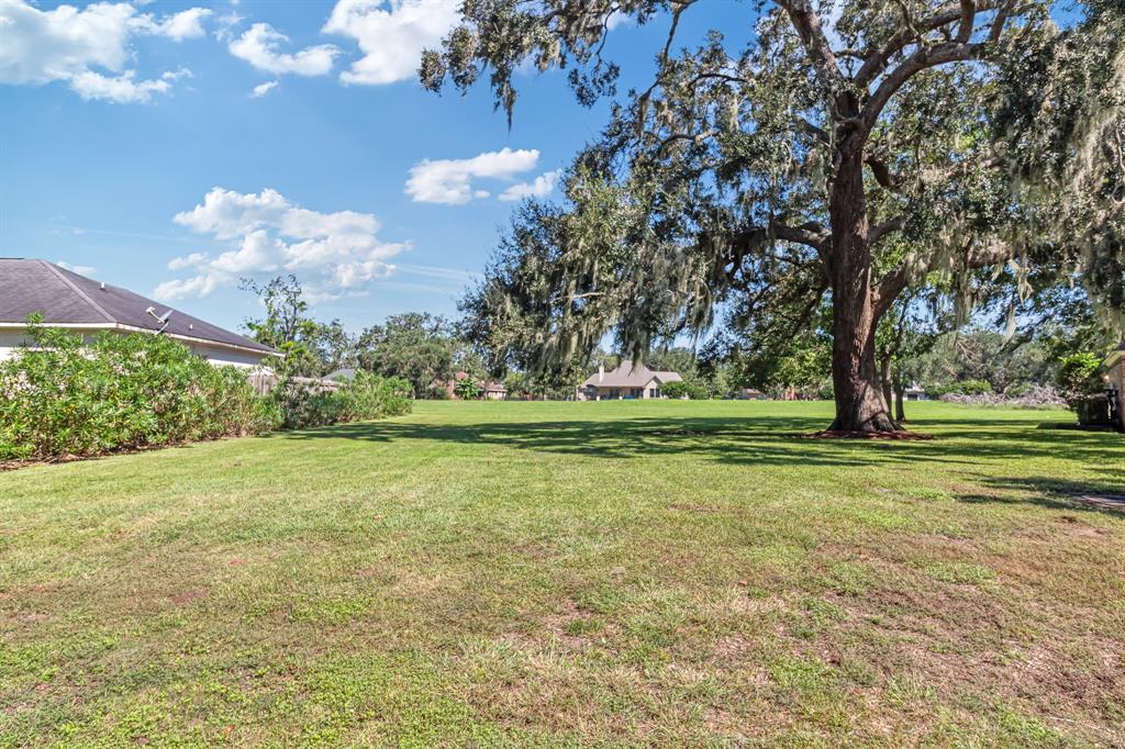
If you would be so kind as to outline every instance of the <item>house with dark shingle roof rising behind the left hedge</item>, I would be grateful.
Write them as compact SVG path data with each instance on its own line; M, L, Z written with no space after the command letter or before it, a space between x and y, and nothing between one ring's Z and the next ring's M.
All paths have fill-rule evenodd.
M270 346L206 323L138 294L79 276L44 260L0 258L0 360L27 343L27 317L91 336L162 334L213 364L252 368L281 354Z

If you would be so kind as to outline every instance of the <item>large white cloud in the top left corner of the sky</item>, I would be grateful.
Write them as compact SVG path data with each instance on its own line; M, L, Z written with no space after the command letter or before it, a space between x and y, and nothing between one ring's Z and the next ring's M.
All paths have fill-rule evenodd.
M132 38L202 36L200 21L208 15L205 8L190 8L158 19L125 2L39 10L24 0L0 0L0 83L66 81L83 99L147 101L154 91L170 90L179 73L138 80L127 67Z

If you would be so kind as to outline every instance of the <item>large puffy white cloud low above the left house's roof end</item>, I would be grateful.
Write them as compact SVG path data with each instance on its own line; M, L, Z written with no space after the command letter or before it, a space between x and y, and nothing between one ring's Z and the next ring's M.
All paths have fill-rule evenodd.
M194 276L156 287L153 295L165 301L207 296L242 277L281 272L297 274L310 298L361 292L368 282L390 273L394 267L387 260L410 246L381 242L379 222L370 214L322 214L270 189L242 193L213 188L202 204L172 220L231 242L231 249L218 255L194 252L169 262L170 270Z

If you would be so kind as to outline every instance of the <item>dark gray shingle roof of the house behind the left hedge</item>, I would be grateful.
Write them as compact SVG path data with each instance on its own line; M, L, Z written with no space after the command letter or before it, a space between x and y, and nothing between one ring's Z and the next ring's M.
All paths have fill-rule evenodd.
M37 312L43 314L45 323L106 327L125 325L155 333L161 323L145 312L148 307L154 307L156 315L171 309L128 289L102 285L45 260L0 258L0 325L22 325L28 315ZM164 332L276 353L270 346L178 309L172 309Z

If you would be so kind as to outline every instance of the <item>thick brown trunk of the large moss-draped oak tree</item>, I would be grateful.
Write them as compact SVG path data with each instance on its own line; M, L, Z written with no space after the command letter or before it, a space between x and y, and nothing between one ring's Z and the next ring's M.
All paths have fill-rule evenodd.
M875 362L879 314L872 289L863 192L863 150L843 150L829 200L831 249L827 258L832 287L834 432L894 432L883 400Z

